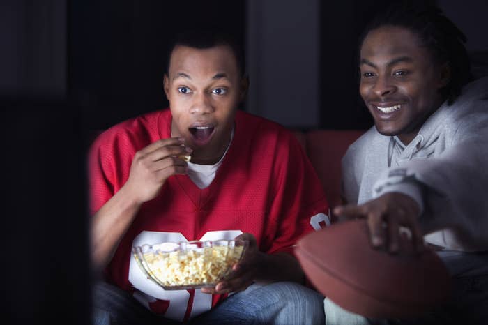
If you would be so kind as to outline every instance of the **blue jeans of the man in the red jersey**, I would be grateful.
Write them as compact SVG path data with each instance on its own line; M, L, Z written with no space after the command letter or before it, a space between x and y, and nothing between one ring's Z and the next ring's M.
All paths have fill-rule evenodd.
M98 283L94 290L93 324L181 324L154 315L130 294ZM293 282L251 285L243 292L229 295L222 303L188 324L321 324L323 296Z

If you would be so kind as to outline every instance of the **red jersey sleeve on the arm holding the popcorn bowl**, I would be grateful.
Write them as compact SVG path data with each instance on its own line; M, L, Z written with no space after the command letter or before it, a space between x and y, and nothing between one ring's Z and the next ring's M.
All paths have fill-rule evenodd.
M318 222L312 217L322 213L319 217L328 218L328 202L303 147L292 134L280 138L287 142L278 146L275 156L276 187L270 208L270 216L276 218L278 226L267 252L293 254L296 241L314 231L313 223L325 227L326 220Z

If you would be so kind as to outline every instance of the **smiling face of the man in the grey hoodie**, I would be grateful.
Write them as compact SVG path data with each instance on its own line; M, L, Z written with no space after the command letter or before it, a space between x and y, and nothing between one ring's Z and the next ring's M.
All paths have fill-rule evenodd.
M360 52L360 94L379 133L409 144L443 103L447 65L437 63L418 36L402 27L370 31Z

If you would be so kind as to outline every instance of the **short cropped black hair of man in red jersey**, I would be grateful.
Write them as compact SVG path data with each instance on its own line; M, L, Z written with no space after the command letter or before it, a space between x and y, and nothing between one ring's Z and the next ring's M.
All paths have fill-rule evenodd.
M207 29L190 29L177 33L169 44L167 50L167 63L165 73L169 73L169 61L171 53L178 45L193 47L196 49L208 49L218 45L227 45L231 48L236 57L237 68L241 77L246 76L245 53L243 46L236 40L236 37L226 33L218 27L208 27Z

